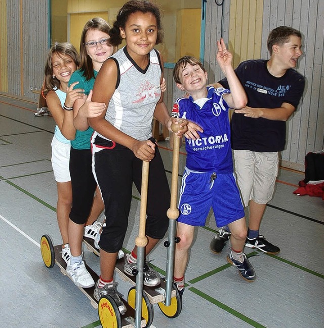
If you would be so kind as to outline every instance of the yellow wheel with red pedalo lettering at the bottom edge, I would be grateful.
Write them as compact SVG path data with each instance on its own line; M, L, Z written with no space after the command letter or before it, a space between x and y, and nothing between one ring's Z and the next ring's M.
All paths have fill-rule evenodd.
M98 303L98 315L102 328L121 328L121 316L111 296L102 296Z

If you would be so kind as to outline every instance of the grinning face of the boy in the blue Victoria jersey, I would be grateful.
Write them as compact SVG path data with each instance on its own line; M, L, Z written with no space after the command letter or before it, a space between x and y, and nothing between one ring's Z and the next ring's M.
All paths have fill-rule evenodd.
M189 94L198 92L206 88L207 76L207 72L199 65L187 63L179 71L181 84L177 83L177 87Z

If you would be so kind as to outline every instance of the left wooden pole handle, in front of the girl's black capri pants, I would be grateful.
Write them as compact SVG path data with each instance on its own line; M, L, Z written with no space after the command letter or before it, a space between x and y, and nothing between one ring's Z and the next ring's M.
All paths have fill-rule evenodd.
M139 222L139 228L138 228L138 236L135 239L135 244L137 247L145 247L147 245L147 238L145 236L145 223L146 223L149 165L150 165L149 162L143 160L141 203L140 203L140 222Z

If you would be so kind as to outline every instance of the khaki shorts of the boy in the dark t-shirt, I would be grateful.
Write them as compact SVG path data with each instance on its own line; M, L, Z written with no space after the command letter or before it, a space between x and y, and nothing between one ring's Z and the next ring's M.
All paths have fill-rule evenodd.
M252 199L258 204L271 200L278 174L277 152L234 150L237 185L244 206Z

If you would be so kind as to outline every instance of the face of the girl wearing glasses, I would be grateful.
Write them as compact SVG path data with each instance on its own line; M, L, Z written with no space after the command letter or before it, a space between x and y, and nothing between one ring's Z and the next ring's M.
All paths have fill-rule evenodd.
M97 29L90 29L85 38L85 44L109 39L109 35ZM86 45L86 51L92 60L93 68L99 71L104 61L113 54L113 47L108 44L101 45L99 42L94 47Z

